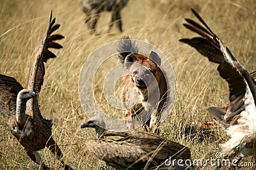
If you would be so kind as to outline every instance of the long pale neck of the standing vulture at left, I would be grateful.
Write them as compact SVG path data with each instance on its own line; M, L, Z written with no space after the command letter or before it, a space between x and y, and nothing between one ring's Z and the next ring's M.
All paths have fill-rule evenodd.
M26 103L27 101L22 100L18 95L16 101L16 120L20 125L26 123Z

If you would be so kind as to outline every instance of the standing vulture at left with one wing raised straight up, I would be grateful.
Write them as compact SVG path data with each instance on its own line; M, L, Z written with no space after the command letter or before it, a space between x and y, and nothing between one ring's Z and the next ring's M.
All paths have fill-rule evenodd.
M29 158L43 169L48 167L41 162L38 150L47 146L51 152L61 161L65 169L72 169L61 158L63 154L52 138L52 121L42 117L38 104L39 92L44 83L44 62L56 57L49 48L62 48L54 41L64 38L60 34L52 35L60 24L52 20L52 12L49 27L45 37L35 55L31 73L29 75L28 89L24 89L20 83L10 76L0 74L0 112L6 119L10 130L26 150Z

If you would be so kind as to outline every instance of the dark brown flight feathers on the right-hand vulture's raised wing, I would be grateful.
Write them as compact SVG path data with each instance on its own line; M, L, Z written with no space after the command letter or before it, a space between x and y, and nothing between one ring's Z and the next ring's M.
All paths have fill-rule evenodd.
M191 38L191 39L180 39L179 41L186 43L193 48L195 48L202 55L207 57L209 61L220 64L218 66L218 71L220 76L228 82L228 88L230 90L230 110L227 111L227 123L232 120L236 115L241 113L241 108L243 108L244 101L243 97L245 94L246 83L244 82L243 76L237 71L237 68L232 67L230 63L226 62L221 52L220 43L218 42L218 37L211 31L209 26L205 24L204 20L192 10L196 17L205 25L206 28L202 27L197 22L187 19L186 21L190 24L184 24L186 28L193 32L196 32L203 36L202 38ZM228 50L230 57L236 61L236 58ZM230 113L231 112L231 113Z

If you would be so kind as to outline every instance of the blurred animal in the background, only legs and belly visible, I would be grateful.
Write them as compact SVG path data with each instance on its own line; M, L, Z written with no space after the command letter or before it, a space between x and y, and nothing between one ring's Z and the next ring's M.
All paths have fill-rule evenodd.
M122 29L122 19L120 12L126 6L129 0L79 0L84 13L86 13L85 22L88 24L89 29L95 31L99 14L102 11L110 11L111 17L109 18L108 31L117 22L120 32Z

